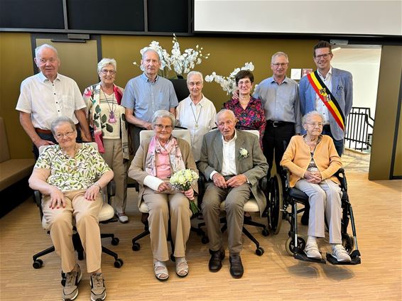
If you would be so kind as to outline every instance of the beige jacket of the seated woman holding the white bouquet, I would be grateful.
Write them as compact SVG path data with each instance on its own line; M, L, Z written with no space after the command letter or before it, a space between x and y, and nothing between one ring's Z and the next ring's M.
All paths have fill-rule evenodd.
M180 148L180 152L183 156L185 168L188 168L190 170L195 170L195 172L198 173L197 165L195 165L195 160L192 157L190 145L188 144L187 141L185 141L181 138L176 138L176 139L178 141L178 146ZM149 147L150 142L151 142L151 140L150 141L141 141L138 151L136 152L134 159L131 161L131 165L129 168L129 177L136 180L139 184L138 207L141 204L143 191L145 190L143 182L144 182L144 179L146 178L146 176L148 176L148 173L146 173L146 171L144 170L144 166L145 166L146 154L148 153L148 147ZM198 193L197 183L192 185L192 189L194 190L195 194Z

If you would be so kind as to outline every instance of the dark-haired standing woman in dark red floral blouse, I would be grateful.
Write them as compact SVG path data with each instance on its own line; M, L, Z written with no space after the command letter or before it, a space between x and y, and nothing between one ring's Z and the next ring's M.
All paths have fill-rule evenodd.
M264 106L260 99L251 96L250 92L253 88L254 75L249 70L241 70L236 77L237 89L239 89L239 97L232 97L223 104L224 109L234 112L237 118L237 126L240 129L256 129L260 133L260 146L262 148L262 138L264 136L266 119L264 114Z

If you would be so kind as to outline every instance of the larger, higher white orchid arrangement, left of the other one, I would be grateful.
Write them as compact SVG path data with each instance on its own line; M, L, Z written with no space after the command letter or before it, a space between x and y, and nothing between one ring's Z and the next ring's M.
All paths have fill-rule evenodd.
M195 65L201 64L202 59L207 60L207 58L210 57L210 53L207 53L207 55L202 54L203 48L199 45L196 45L195 49L188 48L181 53L178 38L176 38L174 33L172 43L173 47L171 54L168 53L165 48L159 45L159 42L156 40L153 40L151 44L140 50L141 57L149 48L156 50L159 58L161 58L161 69L159 70L159 75L162 77L168 78L169 72L171 72L173 69L177 77L184 78L188 72L194 69ZM133 62L133 64L138 66L137 62ZM143 71L143 66L139 65L139 67Z

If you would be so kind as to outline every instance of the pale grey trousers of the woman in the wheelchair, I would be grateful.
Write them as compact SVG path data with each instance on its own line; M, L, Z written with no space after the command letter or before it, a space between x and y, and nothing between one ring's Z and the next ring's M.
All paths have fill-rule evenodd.
M295 187L305 192L309 197L308 236L325 237L326 217L330 243L342 243L342 191L339 185L332 180L323 180L320 184L312 184L302 179L296 182Z

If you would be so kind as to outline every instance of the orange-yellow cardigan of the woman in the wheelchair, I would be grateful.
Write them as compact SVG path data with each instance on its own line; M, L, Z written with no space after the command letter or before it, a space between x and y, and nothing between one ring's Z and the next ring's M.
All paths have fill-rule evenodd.
M342 160L330 136L322 135L320 143L315 148L313 158L315 165L320 170L322 180L330 179L340 184L334 174L339 168L342 168ZM303 136L293 136L281 160L281 165L290 171L290 187L294 187L298 180L303 179L310 160L310 147L305 143Z

